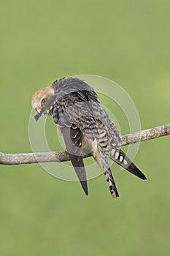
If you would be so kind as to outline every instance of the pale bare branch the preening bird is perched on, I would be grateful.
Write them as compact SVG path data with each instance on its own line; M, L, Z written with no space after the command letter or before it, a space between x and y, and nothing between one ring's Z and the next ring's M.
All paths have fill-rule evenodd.
M137 143L143 140L151 140L162 136L170 135L170 124L160 127L144 129L129 135L122 136L122 146ZM84 157L90 157L85 154ZM22 154L4 154L0 152L1 165L33 164L36 162L64 162L69 161L69 154L66 152L39 152Z

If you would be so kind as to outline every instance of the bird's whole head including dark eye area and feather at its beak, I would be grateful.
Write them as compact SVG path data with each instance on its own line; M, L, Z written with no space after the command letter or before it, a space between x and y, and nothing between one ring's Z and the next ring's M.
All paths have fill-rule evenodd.
M42 115L51 114L51 101L53 101L53 95L55 90L52 86L47 86L44 89L36 91L32 96L31 105L32 108L38 113L35 118L38 121L39 117Z

